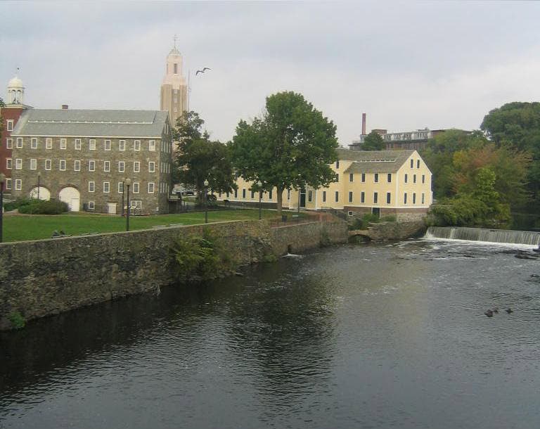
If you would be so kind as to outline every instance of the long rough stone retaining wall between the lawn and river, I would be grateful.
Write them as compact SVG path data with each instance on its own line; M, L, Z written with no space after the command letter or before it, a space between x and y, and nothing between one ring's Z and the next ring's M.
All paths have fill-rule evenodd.
M281 255L289 246L300 251L347 241L341 222L271 229L264 221L238 221L2 243L0 329L12 328L20 316L35 319L173 283L174 239L205 229L226 241L238 264Z

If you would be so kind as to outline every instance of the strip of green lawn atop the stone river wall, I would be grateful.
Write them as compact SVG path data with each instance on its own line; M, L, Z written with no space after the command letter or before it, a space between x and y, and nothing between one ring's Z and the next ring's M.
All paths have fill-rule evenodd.
M302 217L302 214L300 214ZM264 219L277 219L275 210L262 210ZM258 210L219 210L208 212L208 222L259 219ZM129 229L148 229L155 225L194 225L205 222L205 212L130 216ZM46 215L4 215L4 242L51 238L54 230L77 236L89 232L125 231L126 218L120 215L69 213Z

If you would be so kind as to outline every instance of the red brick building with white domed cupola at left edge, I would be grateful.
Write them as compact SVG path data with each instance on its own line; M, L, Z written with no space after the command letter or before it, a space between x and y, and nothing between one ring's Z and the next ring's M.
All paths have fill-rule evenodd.
M17 76L13 77L8 82L8 89L4 103L5 108L0 108L0 117L4 121L3 127L0 127L0 173L6 175L6 184L4 190L11 192L11 151L13 148L13 138L11 133L15 129L20 115L27 109L31 109L30 105L25 105L25 87L23 81Z

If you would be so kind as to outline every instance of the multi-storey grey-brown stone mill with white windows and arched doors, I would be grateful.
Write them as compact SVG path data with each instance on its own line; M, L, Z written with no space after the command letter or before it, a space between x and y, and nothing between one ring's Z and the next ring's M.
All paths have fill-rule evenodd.
M28 109L9 137L13 197L57 198L70 210L167 213L172 132L158 110ZM125 198L125 200L124 200ZM122 206L122 202L124 205Z

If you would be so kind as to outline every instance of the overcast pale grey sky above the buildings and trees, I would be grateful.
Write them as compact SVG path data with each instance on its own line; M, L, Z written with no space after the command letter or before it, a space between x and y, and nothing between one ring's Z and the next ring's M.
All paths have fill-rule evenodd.
M276 91L298 91L361 132L477 129L492 108L540 100L540 3L0 2L0 84L20 68L34 108L159 109L178 34L190 108L232 138ZM212 68L205 75L195 70Z

